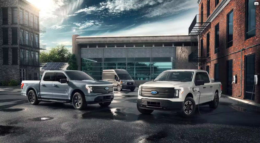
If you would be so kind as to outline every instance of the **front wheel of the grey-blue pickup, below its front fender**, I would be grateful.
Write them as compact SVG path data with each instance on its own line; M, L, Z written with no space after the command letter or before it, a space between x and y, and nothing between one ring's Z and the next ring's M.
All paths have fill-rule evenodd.
M87 106L85 96L82 93L75 93L72 97L73 107L77 110L83 110Z

